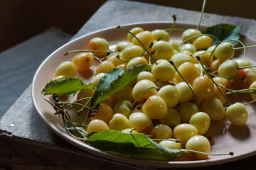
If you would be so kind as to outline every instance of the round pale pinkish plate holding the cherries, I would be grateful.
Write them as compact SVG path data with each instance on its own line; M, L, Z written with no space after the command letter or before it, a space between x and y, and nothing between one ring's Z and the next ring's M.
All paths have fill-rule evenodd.
M131 29L135 26L139 26L144 28L144 30L154 30L156 28L171 28L171 23L168 22L153 22L153 23L133 23L129 25L125 25L125 28ZM196 28L196 25L191 23L176 23L175 28ZM206 28L205 26L201 26L201 28ZM181 33L182 31L173 31L171 33L171 39L181 42ZM129 159L126 157L117 157L112 154L107 154L105 152L101 152L98 149L90 147L86 145L84 142L80 140L76 140L65 132L63 129L62 120L54 115L53 107L50 106L46 101L41 97L41 90L46 85L48 81L53 79L55 68L58 65L66 60L72 60L75 55L70 54L64 56L64 54L70 50L82 50L87 49L87 43L90 39L95 37L102 37L112 41L121 41L126 40L127 33L124 30L118 28L107 28L104 30L99 30L94 33L90 33L87 35L83 35L80 38L77 38L62 47L55 50L50 56L46 58L45 61L38 67L36 74L33 77L32 82L32 99L33 104L38 111L38 114L41 116L43 121L50 127L53 132L62 137L64 140L67 140L71 144L80 147L81 149L85 149L87 152L91 152L93 154L100 155L107 159L116 160L119 162L124 162L126 164L136 164L139 166L151 166L151 167L164 167L164 168L185 168L185 167L196 167L196 166L208 166L212 164L221 164L225 162L232 162L238 159L242 159L245 157L250 157L256 153L256 113L255 106L250 105L247 106L249 111L249 119L246 125L242 127L235 127L230 125L227 120L212 122L210 125L210 130L208 131L208 135L213 137L215 141L215 145L211 148L212 153L223 153L233 151L235 154L233 157L231 156L209 156L207 160L192 160L188 159L188 157L180 157L178 160L173 162L149 162L140 159ZM242 42L245 45L255 45L256 41L251 38L247 38L242 36ZM238 52L237 52L238 53ZM255 63L253 57L255 57L256 49L247 50L247 59L251 62ZM241 52L240 54L241 55ZM90 81L91 76L88 76L86 79ZM247 100L247 96L245 96L244 101ZM233 98L233 102L235 102L235 98ZM73 115L75 117L75 115Z

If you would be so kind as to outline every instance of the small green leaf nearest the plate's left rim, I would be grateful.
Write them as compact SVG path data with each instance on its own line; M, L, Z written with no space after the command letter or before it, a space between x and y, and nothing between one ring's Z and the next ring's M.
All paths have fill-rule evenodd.
M80 78L62 77L48 82L41 93L47 94L75 94L82 89L92 89L93 84L85 84Z

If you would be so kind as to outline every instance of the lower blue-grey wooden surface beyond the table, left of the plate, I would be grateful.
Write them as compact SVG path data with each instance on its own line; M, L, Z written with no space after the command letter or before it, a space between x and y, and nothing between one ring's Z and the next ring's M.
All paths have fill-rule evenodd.
M31 84L39 64L72 36L50 28L0 53L0 118Z

